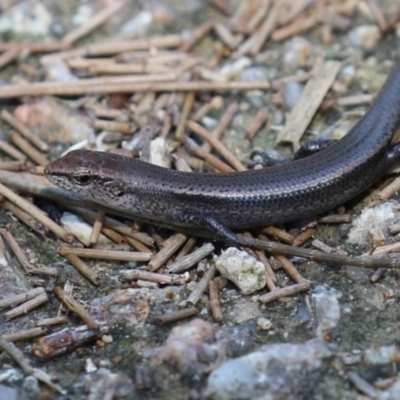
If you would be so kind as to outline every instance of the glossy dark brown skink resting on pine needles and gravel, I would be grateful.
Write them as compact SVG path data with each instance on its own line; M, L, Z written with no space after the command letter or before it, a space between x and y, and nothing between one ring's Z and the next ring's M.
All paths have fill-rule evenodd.
M77 150L45 175L85 199L145 220L206 229L243 244L231 229L294 221L328 211L372 185L397 160L400 64L365 116L341 140L284 165L235 173L173 171L115 154Z

